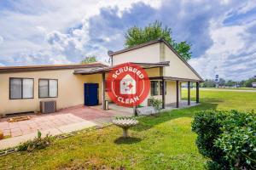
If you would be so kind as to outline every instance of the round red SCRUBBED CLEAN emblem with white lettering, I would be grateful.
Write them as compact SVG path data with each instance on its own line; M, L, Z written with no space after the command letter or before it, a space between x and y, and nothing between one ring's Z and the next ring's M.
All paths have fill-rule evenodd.
M116 65L108 73L108 96L117 105L125 107L140 105L150 89L148 74L139 65L125 63Z

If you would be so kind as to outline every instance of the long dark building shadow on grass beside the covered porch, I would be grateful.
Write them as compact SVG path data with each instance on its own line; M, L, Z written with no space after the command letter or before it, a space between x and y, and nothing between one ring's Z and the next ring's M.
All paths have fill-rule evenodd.
M141 132L144 130L148 130L149 128L154 127L160 123L168 122L173 119L177 119L180 117L193 117L195 116L195 112L197 111L215 110L217 106L218 104L215 103L203 102L201 103L201 105L196 105L189 108L165 111L154 116L143 116L138 119L139 124L136 127L131 127L131 129L137 132Z

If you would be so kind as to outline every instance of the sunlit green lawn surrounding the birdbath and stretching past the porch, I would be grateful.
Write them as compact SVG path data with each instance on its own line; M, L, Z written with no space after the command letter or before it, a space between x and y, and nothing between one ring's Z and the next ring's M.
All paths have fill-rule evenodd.
M201 91L201 105L140 118L132 139L119 139L121 129L110 126L57 140L45 150L1 156L0 169L203 169L190 122L195 111L207 109L255 110L256 93Z

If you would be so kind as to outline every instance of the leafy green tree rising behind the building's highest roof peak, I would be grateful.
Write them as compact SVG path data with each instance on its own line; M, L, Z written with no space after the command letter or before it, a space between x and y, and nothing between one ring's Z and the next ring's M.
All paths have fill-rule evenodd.
M162 23L158 20L154 23L145 26L144 28L139 28L133 26L125 33L125 47L131 48L135 45L139 45L143 42L149 42L163 38L168 42L172 47L180 54L183 59L189 60L192 56L191 53L191 44L188 42L175 42L172 39L172 30L171 28L162 26Z

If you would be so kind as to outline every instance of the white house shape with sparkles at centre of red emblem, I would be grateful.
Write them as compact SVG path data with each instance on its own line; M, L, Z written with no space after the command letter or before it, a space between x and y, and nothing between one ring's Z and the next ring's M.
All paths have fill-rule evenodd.
M136 81L129 74L120 81L120 94L136 94Z

